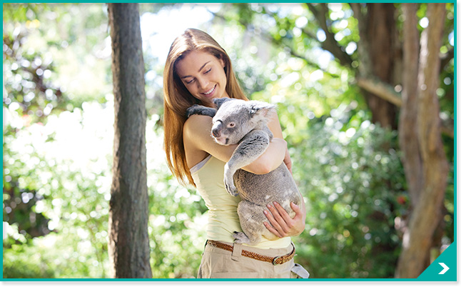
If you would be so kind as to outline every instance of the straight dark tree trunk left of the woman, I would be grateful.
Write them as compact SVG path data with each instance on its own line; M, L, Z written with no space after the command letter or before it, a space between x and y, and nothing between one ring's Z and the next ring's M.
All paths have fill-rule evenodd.
M138 4L108 4L115 121L108 253L113 278L152 278L144 63Z

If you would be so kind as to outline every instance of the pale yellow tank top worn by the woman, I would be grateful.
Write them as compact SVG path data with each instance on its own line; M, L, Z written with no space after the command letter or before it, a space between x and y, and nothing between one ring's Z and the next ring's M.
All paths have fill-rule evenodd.
M208 207L207 238L232 243L234 231L242 231L237 214L240 196L231 196L224 188L224 163L213 156L208 156L191 168L197 191ZM291 243L290 237L269 241L262 238L256 248L285 248ZM244 244L245 245L245 244Z

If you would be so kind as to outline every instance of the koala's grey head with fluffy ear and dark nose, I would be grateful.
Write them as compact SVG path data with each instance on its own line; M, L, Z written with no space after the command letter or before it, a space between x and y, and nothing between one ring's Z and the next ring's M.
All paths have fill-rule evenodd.
M211 133L218 144L238 144L253 129L261 129L275 113L275 106L262 101L214 99L218 111L213 116Z

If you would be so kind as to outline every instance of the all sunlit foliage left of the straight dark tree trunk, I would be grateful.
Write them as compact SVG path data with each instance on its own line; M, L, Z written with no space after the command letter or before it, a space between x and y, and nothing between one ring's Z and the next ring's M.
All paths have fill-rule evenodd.
M101 4L4 4L5 277L106 276L111 157L75 145L86 101L110 92L106 27Z

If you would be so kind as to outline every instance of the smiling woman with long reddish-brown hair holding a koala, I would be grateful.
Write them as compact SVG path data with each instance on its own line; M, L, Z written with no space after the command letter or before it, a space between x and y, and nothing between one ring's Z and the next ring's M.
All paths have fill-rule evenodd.
M292 271L303 268L293 262L295 249L290 236L304 230L304 203L302 206L291 203L296 213L294 218L278 203L268 206L264 213L270 224L265 226L280 239L263 240L257 246L233 243L233 232L241 231L237 214L240 198L227 193L223 173L236 146L222 146L213 141L210 117L186 118L186 109L193 104L213 107L213 99L223 97L248 100L238 85L226 51L205 32L187 29L171 45L163 81L168 166L178 181L196 186L209 209L208 241L198 278L296 277ZM260 158L243 168L246 171L268 173L283 161L291 167L277 116L270 121L269 128L274 134L273 141Z

